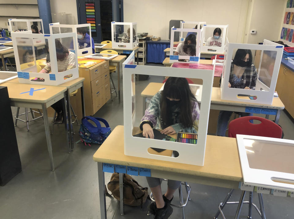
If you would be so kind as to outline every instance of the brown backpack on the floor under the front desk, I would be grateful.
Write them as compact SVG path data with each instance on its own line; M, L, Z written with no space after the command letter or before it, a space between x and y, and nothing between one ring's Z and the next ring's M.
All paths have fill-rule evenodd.
M119 194L119 174L113 173L107 188L111 191L112 195L120 200ZM123 174L123 203L131 206L139 206L145 203L148 196L148 188L143 188L139 183L134 180L130 175Z

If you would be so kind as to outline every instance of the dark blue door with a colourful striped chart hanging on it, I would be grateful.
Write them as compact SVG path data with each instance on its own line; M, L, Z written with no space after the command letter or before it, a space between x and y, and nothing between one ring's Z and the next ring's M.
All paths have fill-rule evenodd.
M79 24L91 24L91 35L95 43L100 43L100 0L78 0L79 1Z

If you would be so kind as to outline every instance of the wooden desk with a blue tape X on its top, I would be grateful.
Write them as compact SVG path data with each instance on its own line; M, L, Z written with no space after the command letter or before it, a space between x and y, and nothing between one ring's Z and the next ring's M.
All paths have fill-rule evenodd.
M64 98L66 99L66 87L62 86L49 86L49 85L32 85L32 84L20 84L20 83L3 83L1 86L5 86L8 89L10 105L13 107L27 107L27 108L37 108L43 110L43 119L45 125L45 133L47 140L47 148L50 158L51 170L55 170L53 154L52 154L52 144L49 131L49 121L47 115L47 108ZM42 89L43 88L43 89ZM44 89L45 88L45 89ZM42 90L38 90L42 89ZM25 93L24 93L25 92ZM64 109L65 101L63 102ZM66 113L64 114L64 119L66 120ZM69 151L71 150L69 144L69 135L67 130L67 124L65 123L65 129L67 132L67 145Z

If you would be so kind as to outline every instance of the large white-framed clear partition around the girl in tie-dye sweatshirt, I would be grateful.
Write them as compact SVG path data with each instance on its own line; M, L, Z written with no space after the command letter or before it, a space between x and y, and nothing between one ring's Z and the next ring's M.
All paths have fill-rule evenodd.
M132 58L133 57L133 58ZM157 66L143 66L142 65L134 65L134 52L131 54L131 58L129 57L123 63L123 96L124 96L124 152L126 155L144 157L144 158L153 158L160 159L165 161L172 162L180 162L187 163L192 165L203 166L204 164L204 154L205 154L205 143L206 143L206 135L207 135L207 124L208 124L208 112L210 107L211 100L211 91L212 91L212 83L213 83L213 70L203 70L203 69L189 69L189 68L161 68ZM139 126L141 120L145 120L144 115L142 114L142 103L141 103L141 95L142 87L139 85L139 81L134 81L134 75L140 77L140 75L149 75L149 83L157 82L162 84L165 77L181 77L181 81L186 80L185 78L196 78L202 81L201 84L191 84L189 86L192 95L195 97L193 101L191 100L191 105L193 103L193 128L190 127L188 129L184 128L187 134L187 137L182 137L182 141L180 142L180 132L183 131L183 126L179 124L177 120L177 116L173 115L171 118L174 119L172 123L175 122L177 132L179 132L179 138L177 135L166 136L160 133L163 127L171 125L168 122L164 122L164 120L159 117L156 119L156 124L154 123L154 135L156 135L156 139L144 138L140 134ZM180 83L180 82L179 82ZM187 83L188 84L188 83ZM164 85L164 84L162 84ZM165 84L166 85L166 84ZM164 85L164 86L165 86ZM167 85L168 86L168 85ZM144 89L144 88L143 88ZM160 90L160 89L159 89ZM158 90L158 91L159 91ZM151 104L161 103L160 99L162 91L159 91L157 95L155 95L151 100ZM172 99L177 99L175 96ZM179 97L178 97L179 98ZM183 98L182 98L183 99ZM181 101L180 99L177 99ZM156 102L157 101L157 102ZM182 102L178 102L174 107L175 111L173 114L179 113L178 107L180 109L184 108L181 104ZM155 104L156 105L156 104ZM145 111L145 115L154 114L156 115L156 110L153 111L154 108L149 108L150 104L147 108L147 112ZM164 107L164 105L159 105L159 107ZM191 107L192 108L192 107ZM149 109L149 111L148 111ZM159 109L157 109L159 115ZM160 114L161 115L161 114ZM156 130L155 130L156 129ZM194 135L192 136L194 132ZM196 132L196 133L195 133ZM197 139L196 135L197 134ZM185 143L183 142L185 139ZM186 140L187 139L187 140ZM192 143L193 139L193 143ZM176 140L176 141L175 141ZM196 142L197 140L197 142ZM166 152L171 151L170 155L158 155L154 154L150 151L150 145L153 148L165 149ZM183 147L184 146L184 147ZM172 153L172 151L176 151Z

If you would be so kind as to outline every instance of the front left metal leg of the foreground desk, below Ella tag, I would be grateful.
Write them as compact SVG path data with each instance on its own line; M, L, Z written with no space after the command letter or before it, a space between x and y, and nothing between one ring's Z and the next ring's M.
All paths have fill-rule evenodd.
M98 188L100 201L101 219L107 219L106 216L106 200L105 200L105 179L102 163L98 162Z

